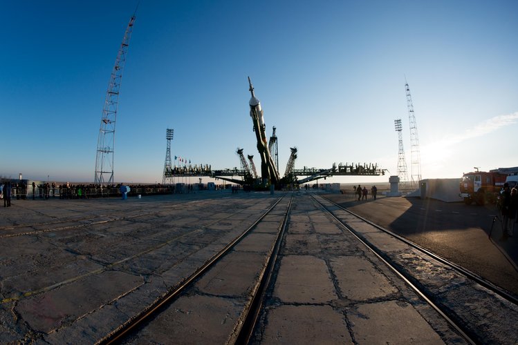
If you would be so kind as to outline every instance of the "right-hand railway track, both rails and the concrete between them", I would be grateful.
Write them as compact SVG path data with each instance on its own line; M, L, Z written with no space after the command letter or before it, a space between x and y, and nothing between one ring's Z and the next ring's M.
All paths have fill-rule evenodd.
M405 279L467 342L515 343L516 334L509 332L515 321L508 322L518 319L518 299L515 295L329 199L317 195L312 197L391 270ZM365 228L364 224L369 226ZM387 250L390 242L400 242L407 248Z

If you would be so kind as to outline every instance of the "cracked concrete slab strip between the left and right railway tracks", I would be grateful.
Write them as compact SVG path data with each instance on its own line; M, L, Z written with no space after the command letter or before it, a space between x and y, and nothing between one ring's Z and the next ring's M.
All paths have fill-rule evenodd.
M463 344L310 198L294 204L257 344Z

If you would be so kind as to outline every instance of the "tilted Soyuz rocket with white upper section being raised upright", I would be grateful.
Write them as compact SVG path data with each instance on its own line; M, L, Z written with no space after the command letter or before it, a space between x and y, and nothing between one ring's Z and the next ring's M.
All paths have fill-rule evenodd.
M252 81L248 77L248 83L250 84L250 117L252 117L252 123L254 124L255 137L257 138L257 150L261 157L261 178L263 179L263 185L266 186L268 181L270 184L278 185L280 178L277 167L273 163L270 150L268 150L268 139L266 139L266 125L264 124L263 109L261 108L261 102L255 98L254 87Z

